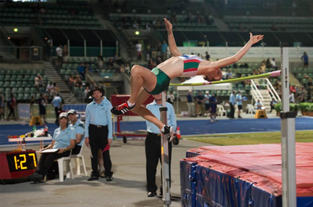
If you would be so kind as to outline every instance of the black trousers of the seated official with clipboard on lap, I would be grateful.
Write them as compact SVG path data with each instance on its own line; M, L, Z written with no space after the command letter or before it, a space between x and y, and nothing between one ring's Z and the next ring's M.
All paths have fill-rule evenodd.
M69 151L63 152L62 154L41 154L36 172L45 176L54 160L61 157L69 157Z

